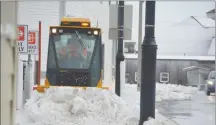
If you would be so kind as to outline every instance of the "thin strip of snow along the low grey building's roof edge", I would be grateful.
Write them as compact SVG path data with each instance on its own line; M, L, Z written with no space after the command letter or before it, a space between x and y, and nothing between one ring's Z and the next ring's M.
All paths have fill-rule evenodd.
M126 59L137 59L138 54L124 54ZM215 56L157 56L158 60L197 60L197 61L215 61Z

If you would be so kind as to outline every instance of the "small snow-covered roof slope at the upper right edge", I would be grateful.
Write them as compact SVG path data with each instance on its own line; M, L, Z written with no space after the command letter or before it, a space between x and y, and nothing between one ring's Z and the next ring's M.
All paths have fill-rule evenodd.
M192 16L196 21L198 21L203 27L213 28L215 27L215 20L207 17L196 17Z

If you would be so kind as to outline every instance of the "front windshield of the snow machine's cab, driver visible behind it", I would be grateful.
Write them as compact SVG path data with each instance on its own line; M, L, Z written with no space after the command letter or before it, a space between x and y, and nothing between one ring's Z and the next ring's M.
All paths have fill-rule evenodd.
M59 68L88 69L96 37L74 31L53 36Z

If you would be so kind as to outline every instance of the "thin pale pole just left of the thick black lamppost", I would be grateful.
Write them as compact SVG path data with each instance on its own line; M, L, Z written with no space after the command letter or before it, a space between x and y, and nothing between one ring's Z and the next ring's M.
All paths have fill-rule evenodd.
M141 41L142 41L142 14L143 14L143 1L139 1L139 25L138 25L138 64L137 64L137 90L140 91L141 83Z

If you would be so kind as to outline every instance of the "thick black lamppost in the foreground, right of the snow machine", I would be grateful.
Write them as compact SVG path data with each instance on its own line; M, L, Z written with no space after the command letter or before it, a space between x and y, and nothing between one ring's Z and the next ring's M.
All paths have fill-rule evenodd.
M155 118L155 70L157 45L154 37L155 30L155 1L146 1L145 37L142 43L141 60L141 92L140 92L140 121L143 125L149 117Z

